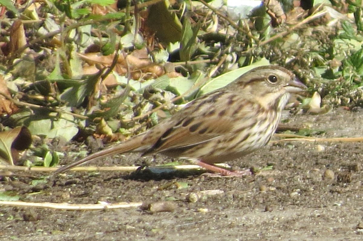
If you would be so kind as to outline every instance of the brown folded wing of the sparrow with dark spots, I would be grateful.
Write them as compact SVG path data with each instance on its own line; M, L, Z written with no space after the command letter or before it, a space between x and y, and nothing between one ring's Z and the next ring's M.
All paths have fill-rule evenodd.
M191 147L232 135L236 121L240 122L238 128L241 130L256 122L256 113L249 105L226 109L221 107L226 106L225 103L204 103L202 110L195 106L181 110L165 123L152 128L144 140L154 139L154 145L145 154Z

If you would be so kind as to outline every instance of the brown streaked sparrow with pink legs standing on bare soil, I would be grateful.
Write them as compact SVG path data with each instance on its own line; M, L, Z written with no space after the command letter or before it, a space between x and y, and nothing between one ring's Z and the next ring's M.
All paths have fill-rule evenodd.
M117 153L161 153L192 160L222 175L244 174L212 165L266 145L276 131L290 93L304 91L289 70L276 65L246 72L227 86L188 103L150 130L56 170Z

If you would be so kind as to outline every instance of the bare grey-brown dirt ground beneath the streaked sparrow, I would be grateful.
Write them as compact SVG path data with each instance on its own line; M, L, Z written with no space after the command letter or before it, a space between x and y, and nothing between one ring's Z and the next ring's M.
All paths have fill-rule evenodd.
M321 115L285 113L285 118L292 126L325 131L319 137L363 136L360 109L339 108ZM271 170L242 178L68 172L33 186L32 179L49 174L16 172L14 181L0 182L0 190L15 192L25 202L168 201L171 211L0 206L0 240L362 240L362 159L361 143L290 141L269 144L230 162L238 168L259 169L273 164ZM98 164L132 165L140 160L134 154ZM150 163L167 161L156 157ZM183 184L187 186L177 188Z

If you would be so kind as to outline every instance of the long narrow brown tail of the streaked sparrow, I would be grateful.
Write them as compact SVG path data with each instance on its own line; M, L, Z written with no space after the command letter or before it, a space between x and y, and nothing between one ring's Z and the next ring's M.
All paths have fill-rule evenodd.
M99 151L99 152L95 152L91 155L88 155L86 156L85 158L79 160L79 161L76 161L76 162L73 162L69 165L65 165L65 166L62 166L60 168L58 168L56 171L54 171L53 174L58 174L58 173L62 173L62 172L66 172L76 166L79 166L79 165L83 165L83 164L86 164L87 162L89 161L95 161L95 160L99 160L101 158L105 158L105 157L108 157L108 156L113 156L115 154L118 154L118 153L126 153L126 152L142 152L142 150L140 149L139 150L139 147L140 147L140 143L142 142L143 138L144 138L144 134L140 134L140 135L137 135L137 136L134 136L126 141L123 141L122 143L119 143L117 145L113 145L109 148L106 148L102 151Z

